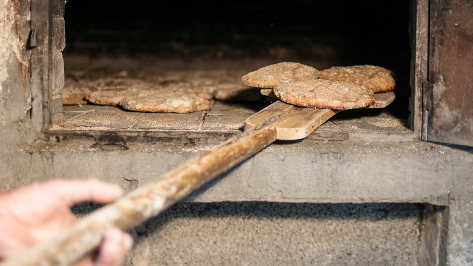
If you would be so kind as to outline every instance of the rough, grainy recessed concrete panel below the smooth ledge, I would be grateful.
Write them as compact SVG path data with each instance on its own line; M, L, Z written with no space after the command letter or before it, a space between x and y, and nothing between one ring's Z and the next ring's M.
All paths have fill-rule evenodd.
M126 265L417 265L422 209L178 203L132 230L135 247Z

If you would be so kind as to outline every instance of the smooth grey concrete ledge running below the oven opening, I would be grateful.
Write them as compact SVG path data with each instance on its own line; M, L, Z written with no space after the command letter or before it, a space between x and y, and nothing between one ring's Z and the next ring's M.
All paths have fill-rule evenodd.
M222 135L183 135L147 143L83 138L37 142L19 156L25 164L22 176L28 179L12 186L51 177L96 176L133 189L213 149L224 139ZM322 139L328 140L313 134L301 141L274 143L185 201L447 205L454 185L471 183L471 148L417 140L390 141L389 137L346 139L345 135L332 134Z

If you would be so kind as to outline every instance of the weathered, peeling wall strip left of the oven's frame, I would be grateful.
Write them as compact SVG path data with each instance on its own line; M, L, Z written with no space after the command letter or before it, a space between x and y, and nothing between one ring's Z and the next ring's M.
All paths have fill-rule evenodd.
M21 148L35 139L30 127L31 86L28 40L30 1L0 1L0 182L9 188L19 178Z

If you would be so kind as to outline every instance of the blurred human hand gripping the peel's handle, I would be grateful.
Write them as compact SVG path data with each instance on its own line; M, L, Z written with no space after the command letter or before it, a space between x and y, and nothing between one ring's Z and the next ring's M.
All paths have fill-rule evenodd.
M53 179L0 194L0 258L21 255L72 226L72 205L89 200L109 203L122 195L120 186L98 179ZM120 265L132 244L130 234L109 228L94 261L80 265Z

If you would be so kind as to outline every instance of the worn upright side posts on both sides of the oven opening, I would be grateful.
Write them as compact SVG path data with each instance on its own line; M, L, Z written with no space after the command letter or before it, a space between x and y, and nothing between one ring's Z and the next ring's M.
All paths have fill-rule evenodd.
M403 134L407 139L418 139L422 132L422 83L427 80L428 35L420 28L428 24L426 6L427 0L413 0L411 4L411 113L408 118L411 133ZM31 55L32 62L35 62L32 63L31 82L34 97L31 117L34 128L46 135L60 134L58 130L52 129L52 125L61 124L64 119L62 99L54 95L54 92L64 86L64 7L62 0L32 0L32 32L35 32L32 34L32 41L37 44Z

